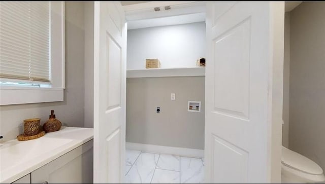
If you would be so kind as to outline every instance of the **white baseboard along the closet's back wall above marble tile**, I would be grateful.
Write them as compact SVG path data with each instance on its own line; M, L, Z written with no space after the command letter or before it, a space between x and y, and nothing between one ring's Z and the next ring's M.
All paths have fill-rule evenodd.
M170 154L179 155L183 157L194 157L203 158L204 150L179 148L163 145L152 145L152 144L140 144L134 142L126 142L126 149L128 150L138 150L143 152L158 153L158 154Z

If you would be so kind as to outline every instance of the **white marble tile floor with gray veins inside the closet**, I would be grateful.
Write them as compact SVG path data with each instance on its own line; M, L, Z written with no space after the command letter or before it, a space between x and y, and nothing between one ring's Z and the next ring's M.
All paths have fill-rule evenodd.
M126 183L204 183L201 158L126 150Z

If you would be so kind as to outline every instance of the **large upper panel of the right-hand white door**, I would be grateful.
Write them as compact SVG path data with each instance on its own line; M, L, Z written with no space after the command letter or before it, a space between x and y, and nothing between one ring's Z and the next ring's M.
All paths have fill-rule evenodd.
M249 118L250 19L215 39L216 113ZM236 54L230 54L232 51ZM226 80L224 80L226 79Z

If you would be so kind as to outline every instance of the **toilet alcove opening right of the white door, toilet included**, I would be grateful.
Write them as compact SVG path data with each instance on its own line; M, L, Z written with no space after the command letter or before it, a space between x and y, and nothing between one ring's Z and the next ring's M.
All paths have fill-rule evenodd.
M325 29L325 3L290 2L285 10L282 183L321 183L325 180L320 141L325 136L319 131L325 128L325 101L321 100L325 84L325 39L321 31ZM290 162L293 157L299 159Z

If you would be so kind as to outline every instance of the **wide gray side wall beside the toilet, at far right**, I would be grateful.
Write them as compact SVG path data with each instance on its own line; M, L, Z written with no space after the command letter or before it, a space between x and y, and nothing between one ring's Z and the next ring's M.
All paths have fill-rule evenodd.
M325 170L325 3L290 12L289 148Z

